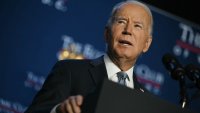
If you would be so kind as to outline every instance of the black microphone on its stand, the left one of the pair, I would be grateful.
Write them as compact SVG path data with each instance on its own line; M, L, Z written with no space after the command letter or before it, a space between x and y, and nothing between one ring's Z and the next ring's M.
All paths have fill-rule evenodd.
M162 62L165 68L170 72L170 75L173 79L179 81L180 86L180 104L182 108L188 103L188 96L187 96L187 88L185 85L185 75L186 72L178 60L172 56L171 54L167 53L162 57Z

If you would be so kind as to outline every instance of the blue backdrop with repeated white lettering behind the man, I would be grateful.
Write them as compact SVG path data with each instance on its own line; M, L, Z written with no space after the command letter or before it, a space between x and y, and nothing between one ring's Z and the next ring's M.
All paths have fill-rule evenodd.
M105 51L104 27L121 0L1 0L0 112L22 113L56 61L96 58ZM151 6L153 43L135 72L152 93L179 105L179 84L162 64L171 53L183 66L200 66L198 25ZM187 80L189 85L193 84ZM200 91L187 90L188 108L200 112Z

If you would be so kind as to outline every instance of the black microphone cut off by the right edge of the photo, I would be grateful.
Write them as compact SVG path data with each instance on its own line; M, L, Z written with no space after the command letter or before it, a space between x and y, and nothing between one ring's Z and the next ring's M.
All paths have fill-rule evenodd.
M188 78L200 89L200 68L194 64L185 67Z

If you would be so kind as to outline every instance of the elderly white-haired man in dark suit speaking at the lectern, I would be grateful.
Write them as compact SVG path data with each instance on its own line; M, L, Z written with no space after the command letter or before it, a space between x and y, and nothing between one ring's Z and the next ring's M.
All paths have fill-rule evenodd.
M151 45L152 24L151 11L143 3L115 5L105 27L106 54L94 60L59 61L26 113L80 113L84 97L99 90L104 78L142 88L133 68Z

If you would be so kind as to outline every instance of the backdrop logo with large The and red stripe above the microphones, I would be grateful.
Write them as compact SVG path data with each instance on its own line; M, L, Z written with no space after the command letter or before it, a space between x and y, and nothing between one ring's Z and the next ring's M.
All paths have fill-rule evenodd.
M176 56L188 58L190 53L196 54L197 62L200 64L200 33L195 32L191 26L180 23L182 34L180 39L176 40L173 52Z

